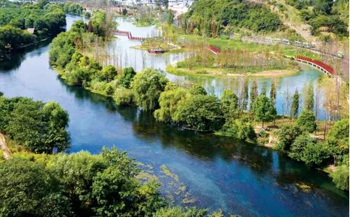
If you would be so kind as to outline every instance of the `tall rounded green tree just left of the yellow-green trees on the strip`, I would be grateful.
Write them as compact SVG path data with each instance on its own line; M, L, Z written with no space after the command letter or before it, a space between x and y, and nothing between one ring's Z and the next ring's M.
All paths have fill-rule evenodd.
M168 79L157 70L147 68L135 75L131 87L135 94L135 103L143 110L156 110L159 107L158 99L164 91Z

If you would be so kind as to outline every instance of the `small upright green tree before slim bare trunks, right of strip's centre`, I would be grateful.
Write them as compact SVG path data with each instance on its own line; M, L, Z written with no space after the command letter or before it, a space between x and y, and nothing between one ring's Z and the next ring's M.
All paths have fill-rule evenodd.
M270 98L260 95L253 103L253 114L256 121L272 121L276 116L276 109Z

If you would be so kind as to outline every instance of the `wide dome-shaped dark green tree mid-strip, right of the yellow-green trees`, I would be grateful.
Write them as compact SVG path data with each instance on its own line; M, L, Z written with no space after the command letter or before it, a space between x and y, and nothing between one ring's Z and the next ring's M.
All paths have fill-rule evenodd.
M179 103L174 121L194 130L218 130L224 124L221 103L214 96L194 95Z

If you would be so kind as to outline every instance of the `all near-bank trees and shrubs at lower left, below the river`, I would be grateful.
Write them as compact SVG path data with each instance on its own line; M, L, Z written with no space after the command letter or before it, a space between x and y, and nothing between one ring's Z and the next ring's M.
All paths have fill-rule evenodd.
M57 103L0 96L0 112L13 152L0 159L1 216L221 216L171 206L126 152L65 154L68 114Z

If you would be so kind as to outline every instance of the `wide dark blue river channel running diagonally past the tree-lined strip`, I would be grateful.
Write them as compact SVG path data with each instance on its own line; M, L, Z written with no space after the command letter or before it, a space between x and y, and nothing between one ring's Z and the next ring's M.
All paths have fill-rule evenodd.
M75 19L68 17L68 26ZM177 204L189 197L194 199L189 205L242 216L349 216L347 193L337 190L323 172L277 151L177 130L135 107L118 107L110 98L69 87L50 68L48 50L48 45L34 47L0 63L0 91L7 97L60 103L70 115L70 152L97 154L103 146L128 151L152 166L164 195L187 186L179 196L173 194ZM177 174L180 184L170 183L173 179L161 172L162 165ZM297 183L313 188L305 193Z

